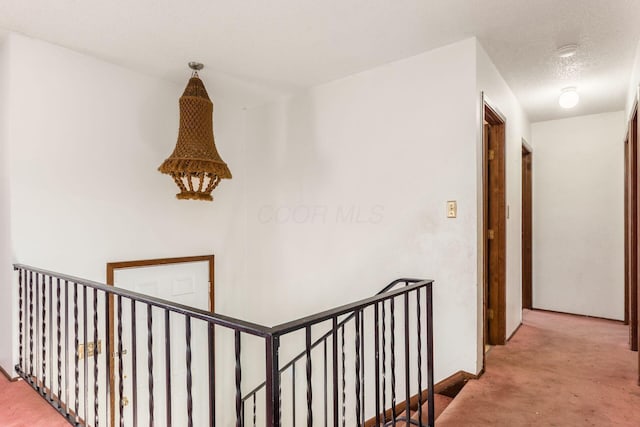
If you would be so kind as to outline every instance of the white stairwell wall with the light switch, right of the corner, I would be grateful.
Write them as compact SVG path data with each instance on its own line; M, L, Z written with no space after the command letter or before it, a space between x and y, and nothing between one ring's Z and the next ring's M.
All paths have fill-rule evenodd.
M476 371L474 58L469 39L248 112L260 280L247 316L276 323L431 278L436 378Z

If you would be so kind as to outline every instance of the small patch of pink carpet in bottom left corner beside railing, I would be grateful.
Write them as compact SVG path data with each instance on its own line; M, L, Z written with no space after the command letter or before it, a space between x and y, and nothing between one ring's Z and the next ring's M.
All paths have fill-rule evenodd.
M69 423L24 381L9 382L0 374L0 426L69 427Z

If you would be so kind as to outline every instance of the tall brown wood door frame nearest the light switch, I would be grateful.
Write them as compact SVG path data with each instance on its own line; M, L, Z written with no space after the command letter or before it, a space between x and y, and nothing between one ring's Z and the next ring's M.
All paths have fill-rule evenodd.
M506 119L482 96L484 343L503 345L506 332Z

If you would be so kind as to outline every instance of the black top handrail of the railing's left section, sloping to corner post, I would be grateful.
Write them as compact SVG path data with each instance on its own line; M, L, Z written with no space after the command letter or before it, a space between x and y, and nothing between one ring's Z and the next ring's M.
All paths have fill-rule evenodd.
M92 289L97 289L99 291L106 292L107 294L123 296L126 298L130 298L131 300L134 300L136 302L149 304L154 307L162 308L165 310L172 311L174 313L179 313L185 316L190 316L196 319L204 320L206 322L214 323L216 325L233 328L242 332L259 336L259 337L266 337L270 335L272 330L272 328L259 325L257 323L247 322L244 320L236 319L236 318L225 316L218 313L211 313L209 311L200 310L197 308L178 304L172 301L167 301L161 298L155 298L149 295L144 295L137 292L129 291L127 289L122 289L115 286L109 286L103 283L94 282L92 280L82 279L82 278L70 276L67 274L56 273L56 272L44 270L41 268L31 267L29 265L14 264L13 269L14 270L24 269L27 271L32 271L34 273L40 273L47 276L56 277L61 280L77 283Z

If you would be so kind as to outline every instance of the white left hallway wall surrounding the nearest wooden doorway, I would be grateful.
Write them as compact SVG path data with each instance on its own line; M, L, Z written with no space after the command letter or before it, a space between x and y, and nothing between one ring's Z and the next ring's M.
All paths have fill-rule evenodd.
M477 43L477 85L487 101L506 118L506 201L507 217L507 337L522 322L522 139L531 141L529 119L515 95L504 81L484 48ZM482 168L482 99L478 101L478 168ZM478 175L478 194L482 195L482 176ZM482 198L480 197L480 202ZM481 208L481 207L480 207ZM480 210L479 212L482 212ZM482 220L481 213L478 215ZM481 230L482 223L479 223ZM479 234L479 251L482 251L482 236ZM482 265L480 266L482 268ZM480 277L482 275L480 274ZM478 286L479 314L482 316L483 287ZM482 317L479 318L482 327ZM479 338L482 339L481 330ZM483 351L483 347L479 346Z

